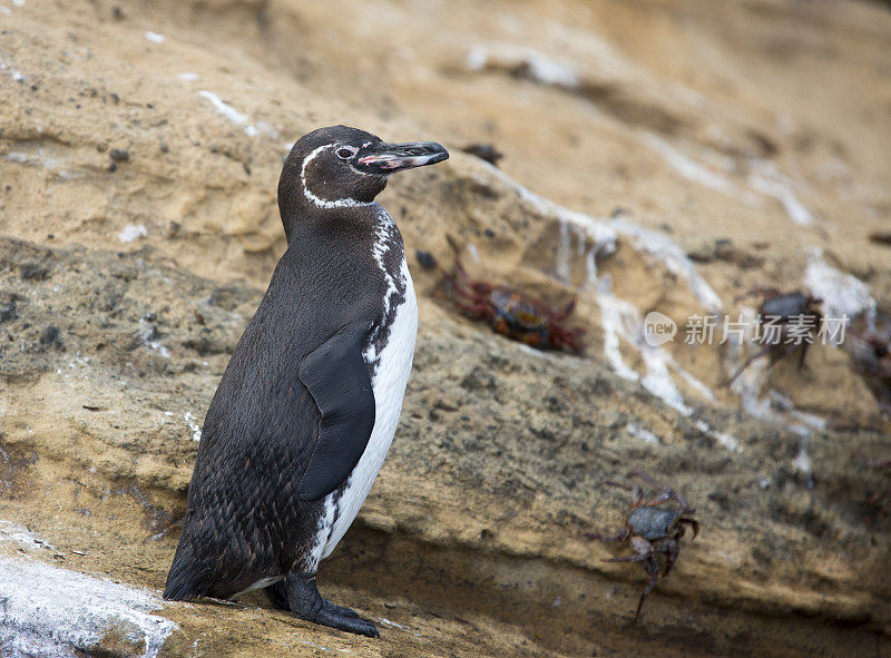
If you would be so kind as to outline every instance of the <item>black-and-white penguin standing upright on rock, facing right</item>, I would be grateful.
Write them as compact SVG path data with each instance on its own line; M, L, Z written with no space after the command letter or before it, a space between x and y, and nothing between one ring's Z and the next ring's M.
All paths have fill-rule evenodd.
M165 599L263 588L301 619L380 637L323 599L316 573L386 456L414 353L402 235L374 198L391 174L448 157L346 126L294 144L278 180L287 249L205 416Z

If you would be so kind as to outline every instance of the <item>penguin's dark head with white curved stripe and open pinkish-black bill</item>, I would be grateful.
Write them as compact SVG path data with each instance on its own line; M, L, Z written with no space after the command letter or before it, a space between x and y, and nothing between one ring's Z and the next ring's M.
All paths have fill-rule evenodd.
M449 157L433 141L386 144L346 126L319 128L301 137L285 160L278 204L335 209L371 204L390 174L432 165Z

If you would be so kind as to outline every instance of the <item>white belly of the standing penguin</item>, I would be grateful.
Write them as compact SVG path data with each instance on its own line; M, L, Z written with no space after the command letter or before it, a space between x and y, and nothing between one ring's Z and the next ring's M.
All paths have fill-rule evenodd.
M386 345L381 350L378 371L371 385L374 391L374 429L362 458L346 480L343 494L335 502L336 492L325 499L325 518L320 528L321 559L325 559L337 546L359 513L371 491L371 485L383 465L393 441L402 399L414 357L414 341L418 337L418 299L414 295L411 274L405 259L402 261L405 282L405 301L398 307L390 327ZM330 532L325 530L330 529ZM325 536L323 539L322 536ZM315 551L314 551L315 552Z

